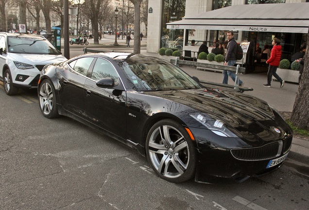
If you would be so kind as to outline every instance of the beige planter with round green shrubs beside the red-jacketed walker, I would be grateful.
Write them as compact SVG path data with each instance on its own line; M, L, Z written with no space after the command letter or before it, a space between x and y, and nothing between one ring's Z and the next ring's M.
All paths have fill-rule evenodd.
M296 62L293 62L293 63L292 63L293 65L291 65L288 59L281 60L279 64L279 68L277 68L276 73L280 75L280 77L283 80L287 82L298 83L299 71L296 70L297 68ZM291 70L290 67L295 70ZM275 80L275 77L273 77L273 80Z

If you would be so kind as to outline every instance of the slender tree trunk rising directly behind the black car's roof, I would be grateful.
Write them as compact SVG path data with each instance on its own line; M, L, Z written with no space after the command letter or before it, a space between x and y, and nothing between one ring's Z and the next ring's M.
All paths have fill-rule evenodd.
M140 53L140 4L142 0L130 0L134 5L134 49L133 53Z

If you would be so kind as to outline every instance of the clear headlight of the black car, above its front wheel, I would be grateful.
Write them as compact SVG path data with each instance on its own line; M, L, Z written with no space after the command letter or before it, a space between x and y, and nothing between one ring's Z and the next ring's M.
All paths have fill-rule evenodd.
M229 129L227 129L227 127L224 125L222 121L210 118L204 113L194 113L190 114L190 116L195 120L197 120L198 122L202 123L206 128L208 128L218 136L234 137L234 138L242 137L242 135L238 131L236 130L234 130L234 132L230 131Z

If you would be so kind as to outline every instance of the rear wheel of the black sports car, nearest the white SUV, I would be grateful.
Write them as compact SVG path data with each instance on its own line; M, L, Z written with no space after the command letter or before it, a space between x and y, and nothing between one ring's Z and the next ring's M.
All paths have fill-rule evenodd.
M39 86L39 105L46 118L59 117L56 103L55 88L52 83L45 79Z

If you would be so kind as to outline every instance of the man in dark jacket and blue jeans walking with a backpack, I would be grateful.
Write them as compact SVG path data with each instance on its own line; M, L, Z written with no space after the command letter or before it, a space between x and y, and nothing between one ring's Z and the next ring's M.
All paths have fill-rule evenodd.
M237 42L234 38L234 33L232 31L227 32L227 52L225 56L224 66L234 66L236 64L237 58ZM223 84L227 84L228 82L228 76L232 78L232 80L235 82L236 74L233 71L229 70L223 70ZM239 86L243 86L243 82L239 80Z

